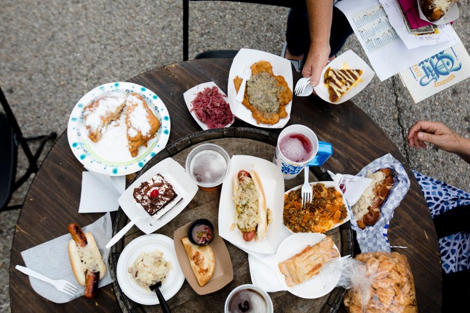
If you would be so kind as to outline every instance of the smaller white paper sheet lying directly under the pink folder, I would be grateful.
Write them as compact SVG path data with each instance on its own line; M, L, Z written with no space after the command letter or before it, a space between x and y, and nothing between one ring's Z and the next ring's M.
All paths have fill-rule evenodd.
M382 4L385 13L387 14L388 21L395 29L403 44L408 49L414 49L423 45L436 45L444 43L448 40L452 40L453 32L452 27L449 25L439 26L438 31L435 34L429 35L416 35L411 34L406 27L401 14L400 3L398 0L379 0Z

